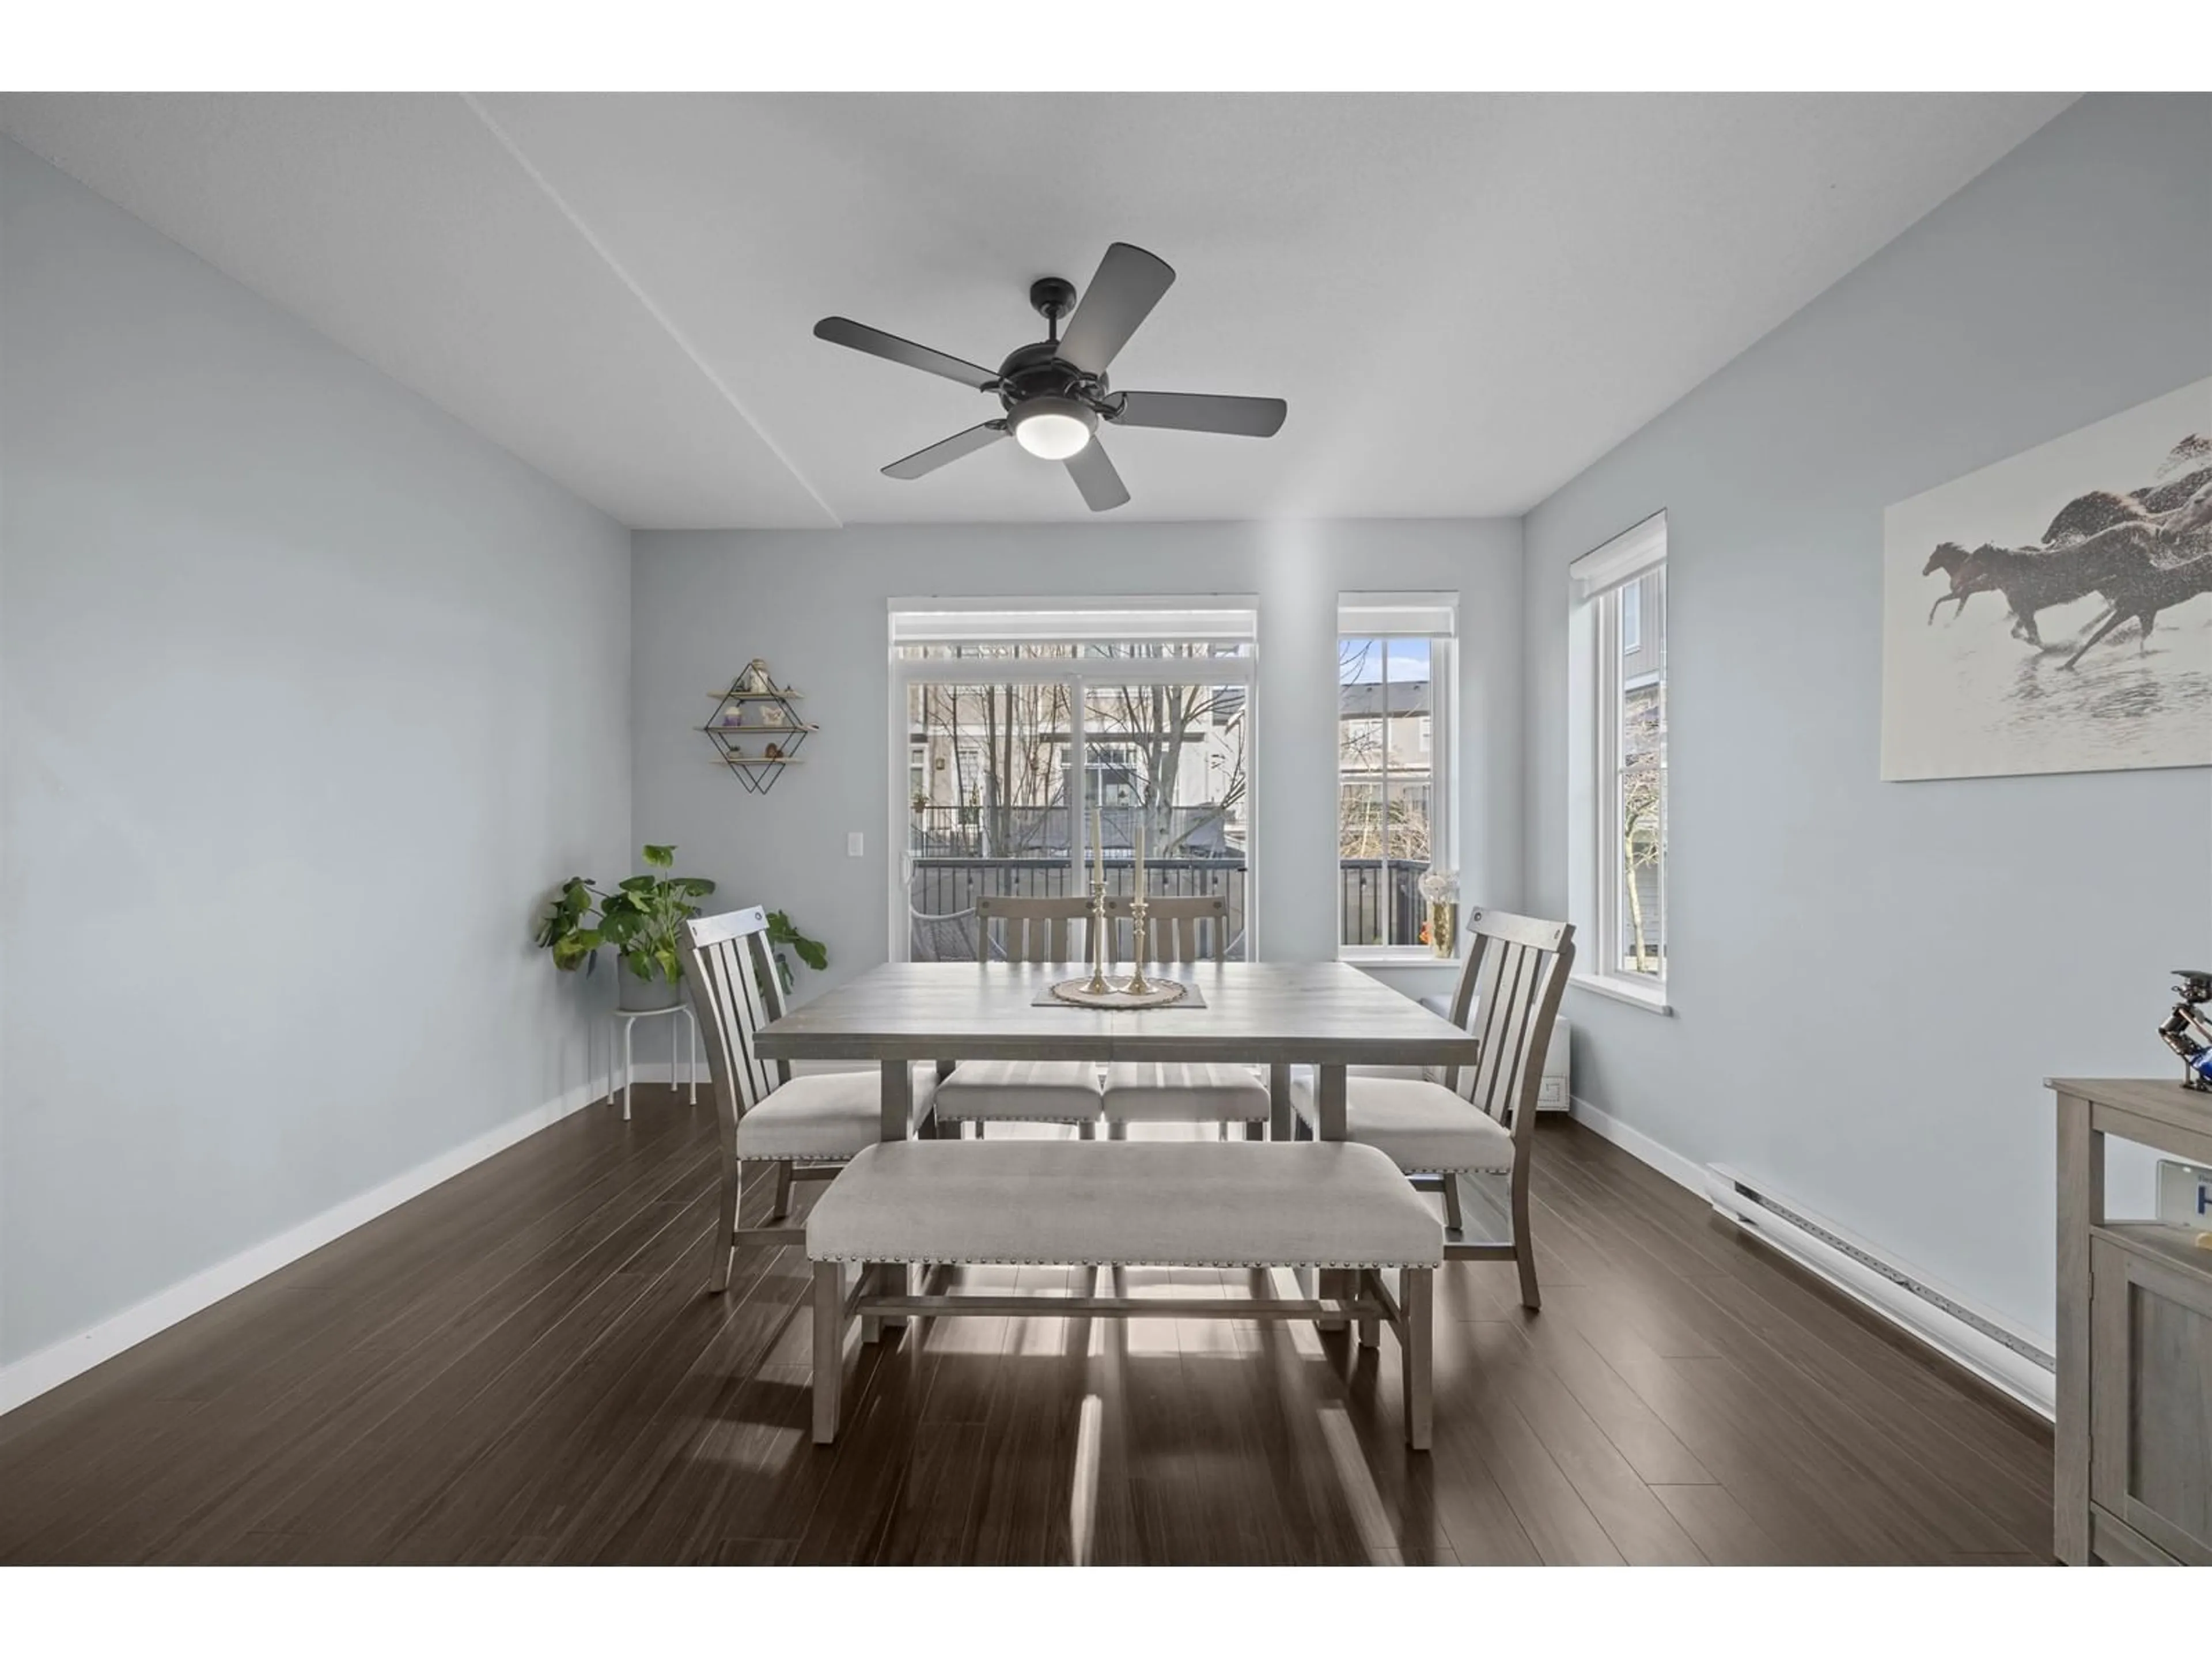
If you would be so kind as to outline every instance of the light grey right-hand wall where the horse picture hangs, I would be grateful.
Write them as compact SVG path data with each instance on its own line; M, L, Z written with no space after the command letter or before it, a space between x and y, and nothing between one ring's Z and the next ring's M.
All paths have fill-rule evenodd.
M2077 104L1526 520L1531 900L1566 905L1564 566L1666 509L1672 1020L1575 1093L2051 1332L2044 1075L2154 1075L2203 770L1878 783L1882 507L2212 367L2212 95Z

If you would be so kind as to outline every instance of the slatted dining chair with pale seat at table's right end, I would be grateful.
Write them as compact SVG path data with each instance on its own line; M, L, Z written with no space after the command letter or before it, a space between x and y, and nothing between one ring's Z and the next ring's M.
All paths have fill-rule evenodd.
M1544 1051L1575 964L1575 927L1502 909L1478 909L1462 927L1469 962L1453 991L1451 1018L1480 1040L1471 1064L1444 1082L1345 1077L1345 1139L1363 1141L1420 1188L1444 1192L1444 1261L1511 1261L1522 1307L1540 1307L1528 1234L1528 1166L1535 1152ZM1292 1084L1292 1108L1318 1133L1310 1079ZM1511 1243L1467 1243L1460 1219L1462 1175L1509 1177Z

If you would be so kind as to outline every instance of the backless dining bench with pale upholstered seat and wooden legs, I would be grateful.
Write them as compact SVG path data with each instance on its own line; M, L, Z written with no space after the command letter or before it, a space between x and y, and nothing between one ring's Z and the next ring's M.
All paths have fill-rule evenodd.
M1405 1438L1429 1449L1444 1232L1398 1166L1345 1141L883 1141L807 1217L814 1440L838 1429L852 1321L1312 1318L1398 1334ZM1294 1267L1318 1296L907 1294L911 1265ZM1391 1294L1385 1270L1398 1270ZM1329 1294L1347 1292L1347 1294Z

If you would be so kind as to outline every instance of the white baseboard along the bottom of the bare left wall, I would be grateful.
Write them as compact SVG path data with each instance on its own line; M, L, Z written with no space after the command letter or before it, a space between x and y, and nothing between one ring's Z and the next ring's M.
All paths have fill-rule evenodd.
M644 1082L644 1066L639 1066L639 1082ZM274 1239L257 1243L250 1250L241 1250L212 1267L204 1267L190 1279L155 1292L146 1301L100 1321L91 1329L64 1336L60 1343L42 1347L38 1354L27 1354L13 1365L0 1367L0 1413L13 1411L24 1400L33 1400L46 1389L60 1387L69 1378L93 1369L102 1360L115 1358L126 1347L137 1347L148 1336L168 1329L181 1318L190 1318L201 1307L212 1307L223 1296L230 1296L257 1279L265 1279L279 1267L299 1261L310 1250L321 1250L332 1239L352 1232L365 1221L374 1221L385 1210L407 1203L407 1199L429 1192L440 1181L451 1181L473 1164L482 1164L493 1152L504 1152L515 1141L535 1135L549 1124L557 1124L562 1117L568 1117L568 1113L582 1110L595 1099L604 1099L604 1077L582 1082L566 1095L526 1110L520 1117L511 1117L498 1128L478 1135L473 1141L456 1146L451 1152L440 1152L427 1164L418 1164L405 1175L396 1175L361 1197L332 1206L330 1210L301 1221L296 1228L279 1232Z

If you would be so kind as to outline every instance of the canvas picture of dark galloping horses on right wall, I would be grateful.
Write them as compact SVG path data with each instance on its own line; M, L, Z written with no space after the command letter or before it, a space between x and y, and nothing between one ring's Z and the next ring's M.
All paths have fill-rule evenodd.
M1882 776L2212 765L2212 380L1882 515Z

